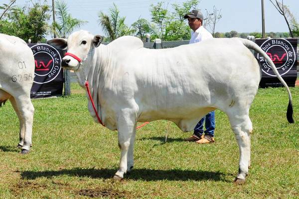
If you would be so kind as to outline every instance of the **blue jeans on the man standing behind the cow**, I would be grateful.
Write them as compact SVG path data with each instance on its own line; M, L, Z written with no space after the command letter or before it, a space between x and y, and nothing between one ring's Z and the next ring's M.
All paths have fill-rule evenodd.
M214 137L215 130L215 111L208 113L204 116L195 126L193 136L200 138L203 134L203 122L205 120L205 128L204 133L211 137Z

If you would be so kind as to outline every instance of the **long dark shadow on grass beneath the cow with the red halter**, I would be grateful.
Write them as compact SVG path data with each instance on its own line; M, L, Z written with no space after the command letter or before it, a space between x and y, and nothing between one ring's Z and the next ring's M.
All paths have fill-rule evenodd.
M89 178L111 179L117 169L63 169L58 171L24 171L21 173L22 179L34 180L40 177L52 178L55 176L75 176ZM194 170L150 170L150 169L134 169L131 174L125 175L128 180L144 180L144 181L227 181L226 174L221 172L194 171ZM233 175L232 175L233 176Z

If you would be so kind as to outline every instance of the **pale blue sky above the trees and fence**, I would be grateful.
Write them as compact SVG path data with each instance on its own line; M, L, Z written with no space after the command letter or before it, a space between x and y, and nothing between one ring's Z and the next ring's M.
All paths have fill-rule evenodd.
M9 0L0 0L7 3ZM16 5L23 5L28 0L16 0ZM52 0L47 0L52 4ZM131 25L139 17L150 20L150 5L163 1L171 10L171 4L182 4L186 0L64 0L68 10L75 18L88 21L79 29L88 30L93 34L105 35L99 25L99 11L110 14L109 8L116 3L120 16L125 16L125 23ZM273 0L275 1L275 0ZM281 1L281 0L280 0ZM2 4L2 3L0 3ZM168 5L167 5L168 4ZM299 0L284 0L291 12L299 21ZM200 0L198 8L205 13L205 9L212 11L213 6L221 9L222 18L216 24L215 32L262 32L261 0ZM286 21L270 0L264 0L265 30L266 32L288 32ZM187 21L186 21L187 23ZM78 30L78 29L76 29Z

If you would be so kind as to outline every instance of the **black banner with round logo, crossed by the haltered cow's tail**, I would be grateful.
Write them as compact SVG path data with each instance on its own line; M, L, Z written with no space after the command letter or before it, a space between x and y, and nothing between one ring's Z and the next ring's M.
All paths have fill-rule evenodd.
M288 86L294 87L297 79L297 38L256 39L255 42L269 55ZM255 56L262 69L260 87L283 86L265 58L259 53Z

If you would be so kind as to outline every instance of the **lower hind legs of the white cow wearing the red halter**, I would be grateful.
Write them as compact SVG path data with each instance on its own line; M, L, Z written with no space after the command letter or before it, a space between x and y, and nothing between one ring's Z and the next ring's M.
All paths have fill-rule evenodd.
M228 113L232 130L235 133L240 152L239 172L235 179L235 183L245 183L248 175L248 167L250 166L250 134L252 133L252 123L249 118L248 110L232 108Z

